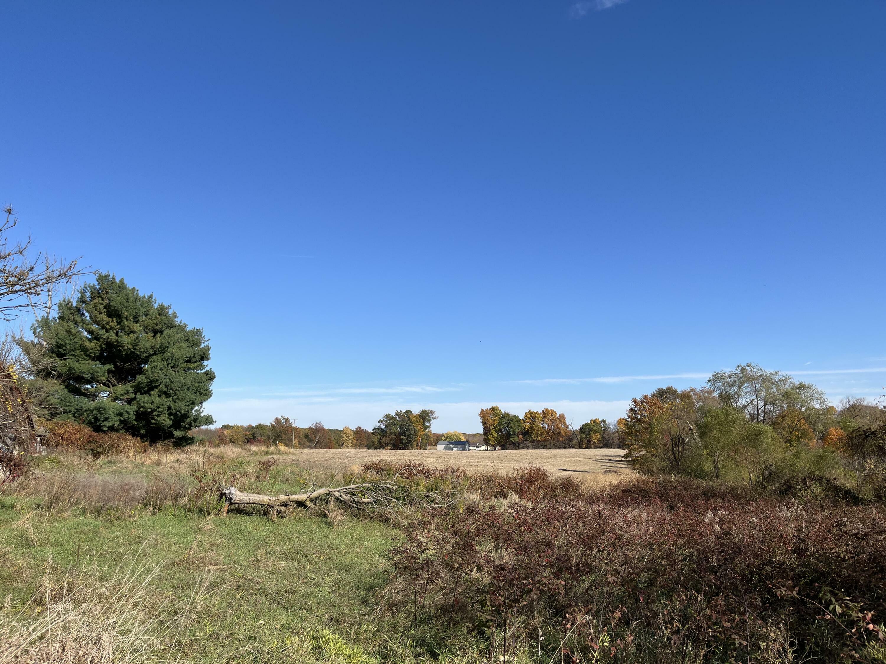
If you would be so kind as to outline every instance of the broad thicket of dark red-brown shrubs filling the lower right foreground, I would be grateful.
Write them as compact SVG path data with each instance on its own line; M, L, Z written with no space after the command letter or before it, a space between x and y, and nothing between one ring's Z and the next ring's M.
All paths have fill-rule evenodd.
M428 510L393 552L387 597L482 634L517 625L537 639L554 626L548 643L565 636L555 654L567 661L791 648L800 660L870 659L886 616L884 515L740 494L652 480L504 512Z

